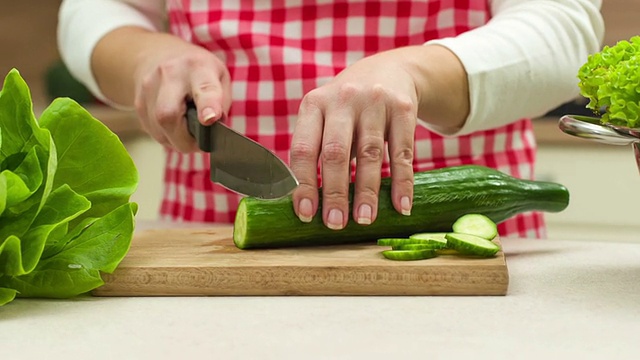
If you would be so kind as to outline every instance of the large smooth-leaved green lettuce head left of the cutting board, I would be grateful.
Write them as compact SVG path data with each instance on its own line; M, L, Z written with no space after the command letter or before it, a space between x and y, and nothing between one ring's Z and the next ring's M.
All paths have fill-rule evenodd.
M129 250L137 184L115 134L68 98L36 120L11 70L0 91L0 305L101 286Z

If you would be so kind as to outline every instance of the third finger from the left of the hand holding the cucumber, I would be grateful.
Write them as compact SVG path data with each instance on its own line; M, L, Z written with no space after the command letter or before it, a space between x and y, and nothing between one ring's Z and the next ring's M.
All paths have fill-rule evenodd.
M378 213L380 172L384 158L386 115L384 104L374 102L360 115L356 127L356 180L353 219L361 225L373 223Z

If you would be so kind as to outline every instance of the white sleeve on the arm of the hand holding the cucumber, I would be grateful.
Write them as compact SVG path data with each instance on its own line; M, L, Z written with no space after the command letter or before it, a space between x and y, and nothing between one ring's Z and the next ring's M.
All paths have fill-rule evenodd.
M574 99L580 66L601 49L602 0L490 3L493 17L486 25L427 42L450 49L468 74L470 113L463 127L448 135L541 116Z

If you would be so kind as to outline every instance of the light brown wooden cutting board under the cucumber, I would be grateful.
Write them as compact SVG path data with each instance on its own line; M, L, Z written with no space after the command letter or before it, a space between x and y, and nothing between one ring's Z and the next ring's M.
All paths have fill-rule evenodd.
M498 240L496 240L498 241ZM232 227L137 232L96 296L506 295L504 254L392 261L375 244L240 250Z

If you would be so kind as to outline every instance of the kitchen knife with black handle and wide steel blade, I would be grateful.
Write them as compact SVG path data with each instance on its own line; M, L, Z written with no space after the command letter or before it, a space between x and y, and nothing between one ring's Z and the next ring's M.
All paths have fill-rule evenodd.
M211 181L241 195L277 199L290 194L298 180L269 149L223 124L198 121L195 104L187 103L187 124L200 150L210 153Z

